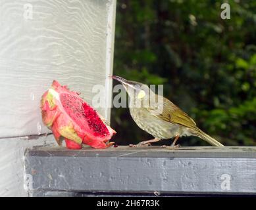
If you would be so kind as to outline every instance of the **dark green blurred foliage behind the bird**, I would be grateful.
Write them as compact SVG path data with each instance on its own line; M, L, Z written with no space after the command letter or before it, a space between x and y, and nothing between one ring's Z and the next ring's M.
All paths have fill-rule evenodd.
M256 1L228 1L230 20L220 18L222 3L118 1L114 74L163 84L165 97L224 145L256 146ZM117 144L152 138L128 108L112 109L111 127Z

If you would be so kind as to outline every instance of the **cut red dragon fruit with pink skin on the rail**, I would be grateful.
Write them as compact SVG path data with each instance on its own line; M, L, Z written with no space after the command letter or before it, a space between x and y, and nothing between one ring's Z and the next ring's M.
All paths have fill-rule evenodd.
M41 98L41 114L59 145L61 137L70 149L80 149L82 143L93 148L107 148L115 143L109 140L116 132L104 123L103 117L78 93L57 81L53 81Z

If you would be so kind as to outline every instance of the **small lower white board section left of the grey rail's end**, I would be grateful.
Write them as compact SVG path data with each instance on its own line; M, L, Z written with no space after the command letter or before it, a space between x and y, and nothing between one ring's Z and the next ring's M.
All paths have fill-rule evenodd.
M56 145L53 135L32 140L26 138L0 140L0 197L28 196L24 188L24 151L32 146Z

